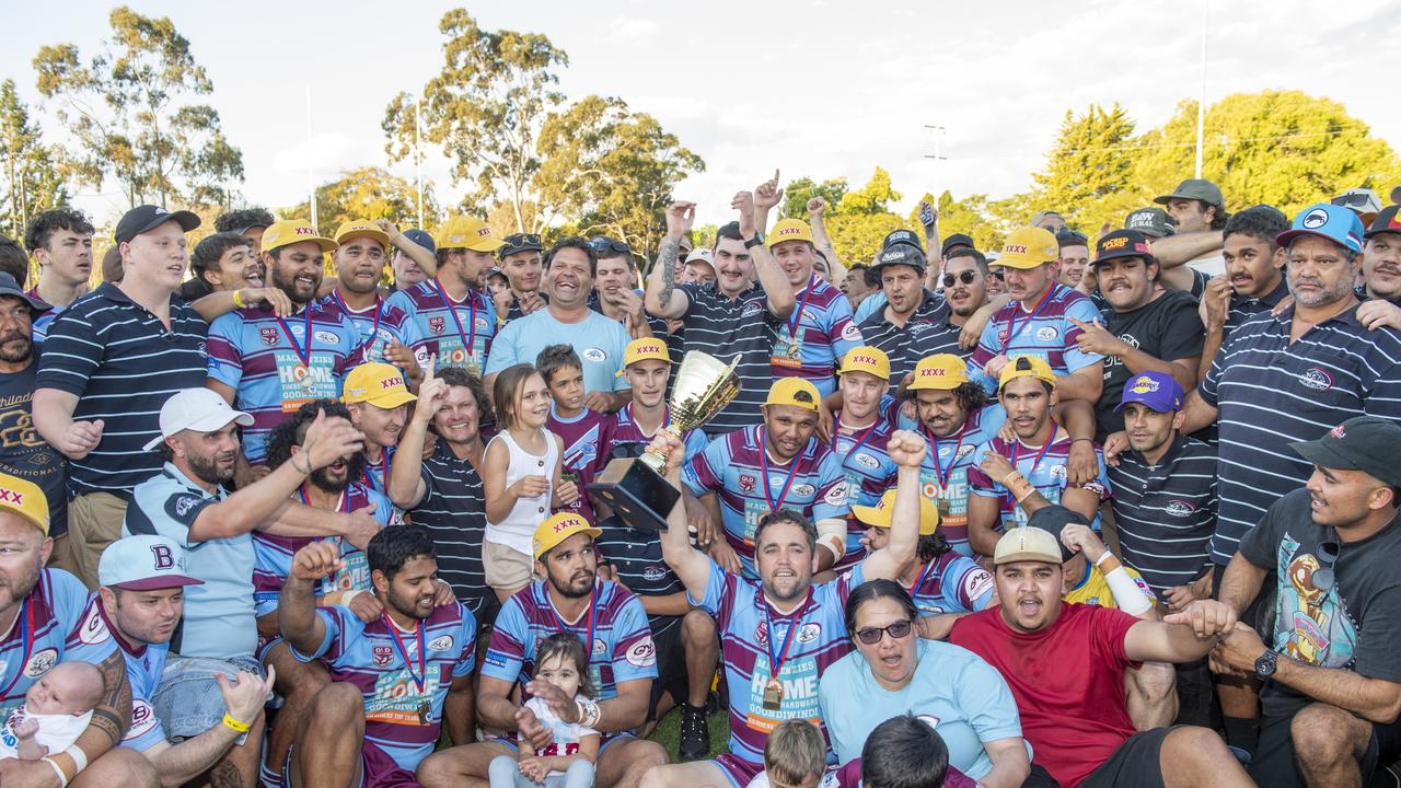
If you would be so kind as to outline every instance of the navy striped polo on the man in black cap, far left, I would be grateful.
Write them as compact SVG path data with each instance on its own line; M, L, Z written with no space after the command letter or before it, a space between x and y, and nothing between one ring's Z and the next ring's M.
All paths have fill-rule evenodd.
M73 421L102 419L102 440L69 463L74 495L132 488L158 474L164 461L146 443L160 436L161 405L182 388L205 386L209 324L175 294L171 328L104 282L69 304L49 325L36 388L78 397Z

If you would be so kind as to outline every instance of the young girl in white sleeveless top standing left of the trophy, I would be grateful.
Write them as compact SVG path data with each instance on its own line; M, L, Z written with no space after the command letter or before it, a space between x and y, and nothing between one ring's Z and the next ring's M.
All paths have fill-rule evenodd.
M534 561L530 540L535 526L556 506L579 498L579 487L560 481L559 437L545 429L549 388L530 365L502 370L492 386L496 422L502 429L486 444L482 487L486 494L486 536L482 564L486 585L506 602L530 583Z

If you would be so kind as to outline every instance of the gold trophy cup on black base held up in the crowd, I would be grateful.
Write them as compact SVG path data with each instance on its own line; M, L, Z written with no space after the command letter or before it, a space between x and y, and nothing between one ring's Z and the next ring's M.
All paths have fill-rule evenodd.
M740 376L734 372L738 363L738 356L726 365L700 351L686 353L677 367L670 418L661 429L679 440L715 418L740 393ZM609 461L587 489L629 526L660 531L667 529L667 515L681 499L681 491L664 478L665 470L667 456L649 446L640 457Z

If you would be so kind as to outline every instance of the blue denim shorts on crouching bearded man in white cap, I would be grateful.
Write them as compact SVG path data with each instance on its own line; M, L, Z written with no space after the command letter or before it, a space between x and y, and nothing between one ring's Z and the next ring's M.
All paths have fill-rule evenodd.
M224 719L224 694L219 691L216 674L234 679L240 672L266 677L262 665L251 656L234 659L213 659L207 656L165 658L161 684L151 697L156 716L165 726L165 736L172 742L199 736ZM244 735L247 736L247 735ZM244 743L244 736L238 743Z

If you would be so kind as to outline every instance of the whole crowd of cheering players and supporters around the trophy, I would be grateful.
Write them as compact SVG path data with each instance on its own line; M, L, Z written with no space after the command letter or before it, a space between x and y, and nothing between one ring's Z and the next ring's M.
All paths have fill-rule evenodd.
M922 206L843 261L780 202L650 262L143 205L99 276L34 217L0 785L1398 784L1397 205ZM657 527L601 494L647 453Z

